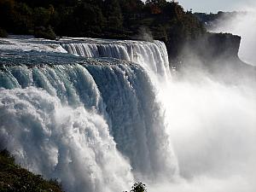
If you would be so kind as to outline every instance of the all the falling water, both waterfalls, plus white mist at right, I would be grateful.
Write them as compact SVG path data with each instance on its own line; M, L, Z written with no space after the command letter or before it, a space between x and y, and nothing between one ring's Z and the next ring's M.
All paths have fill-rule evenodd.
M0 39L0 148L67 191L254 192L254 84L171 78L165 44Z

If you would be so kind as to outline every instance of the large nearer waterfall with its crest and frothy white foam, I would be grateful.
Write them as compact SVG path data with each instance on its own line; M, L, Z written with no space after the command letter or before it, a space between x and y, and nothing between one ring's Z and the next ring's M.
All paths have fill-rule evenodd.
M22 166L78 192L123 191L134 177L177 174L160 103L140 65L10 50L0 63L0 148Z

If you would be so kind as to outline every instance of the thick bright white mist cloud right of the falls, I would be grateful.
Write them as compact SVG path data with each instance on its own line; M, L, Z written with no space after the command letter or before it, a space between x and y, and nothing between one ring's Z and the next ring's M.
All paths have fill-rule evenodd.
M203 73L194 79L162 92L183 179L149 191L255 191L255 88L220 84Z

